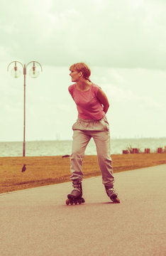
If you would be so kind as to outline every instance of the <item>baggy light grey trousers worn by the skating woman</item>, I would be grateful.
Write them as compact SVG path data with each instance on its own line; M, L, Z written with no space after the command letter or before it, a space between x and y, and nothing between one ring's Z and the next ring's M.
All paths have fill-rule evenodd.
M82 181L82 161L84 151L90 139L93 138L96 144L96 153L98 157L99 168L102 174L102 183L112 188L114 185L114 175L112 169L110 152L110 133L109 122L106 116L101 120L77 119L72 126L73 141L72 154L70 156L71 180Z

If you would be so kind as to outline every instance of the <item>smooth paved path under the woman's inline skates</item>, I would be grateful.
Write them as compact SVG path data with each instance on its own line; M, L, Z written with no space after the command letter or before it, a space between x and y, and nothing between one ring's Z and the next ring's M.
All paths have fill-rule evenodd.
M165 256L166 165L115 174L120 204L101 177L86 203L66 206L71 183L0 195L0 256Z

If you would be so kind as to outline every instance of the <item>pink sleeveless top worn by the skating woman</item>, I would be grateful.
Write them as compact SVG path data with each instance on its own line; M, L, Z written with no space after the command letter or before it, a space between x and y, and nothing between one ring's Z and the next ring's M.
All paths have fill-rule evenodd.
M89 90L81 92L77 90L76 84L68 88L70 95L77 105L78 117L81 119L102 119L105 115L104 107L97 98L98 85L92 83Z

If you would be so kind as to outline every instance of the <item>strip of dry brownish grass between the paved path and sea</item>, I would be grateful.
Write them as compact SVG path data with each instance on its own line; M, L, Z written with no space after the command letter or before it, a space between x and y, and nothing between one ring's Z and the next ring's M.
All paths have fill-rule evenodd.
M114 173L166 164L166 154L112 155ZM26 171L21 172L23 164ZM85 156L84 178L99 176L96 156ZM70 159L62 156L0 157L0 193L70 181Z

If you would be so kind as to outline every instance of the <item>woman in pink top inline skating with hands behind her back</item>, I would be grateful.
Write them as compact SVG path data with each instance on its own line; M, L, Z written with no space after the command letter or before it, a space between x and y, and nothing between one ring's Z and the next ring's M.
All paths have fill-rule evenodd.
M109 101L105 93L90 79L91 71L84 63L76 63L70 67L73 85L68 88L77 105L78 119L72 126L73 142L70 156L72 186L74 189L67 195L67 204L82 203L82 161L84 151L91 138L96 144L99 168L102 182L111 201L120 203L114 190L114 176L111 165L109 123L106 112Z

